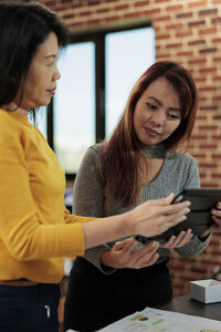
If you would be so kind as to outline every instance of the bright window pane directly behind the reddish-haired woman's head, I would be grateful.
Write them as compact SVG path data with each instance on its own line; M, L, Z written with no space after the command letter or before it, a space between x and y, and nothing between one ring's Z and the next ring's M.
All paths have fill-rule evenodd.
M141 73L155 62L155 32L143 28L108 33L106 52L106 137L124 112L128 95Z

